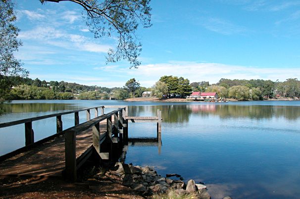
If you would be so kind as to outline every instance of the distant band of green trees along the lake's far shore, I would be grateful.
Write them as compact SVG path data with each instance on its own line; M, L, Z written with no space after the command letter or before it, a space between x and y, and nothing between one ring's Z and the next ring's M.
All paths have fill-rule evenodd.
M300 97L300 81L272 80L229 80L220 79L215 84L208 81L190 83L182 77L163 76L155 85L146 88L135 80L128 80L123 87L88 86L66 81L46 81L36 78L0 77L1 82L13 82L13 86L5 91L6 100L15 99L127 99L133 96L142 97L144 91L152 91L158 98L185 98L192 91L217 92L221 98L237 100L262 100L263 98ZM4 81L5 80L5 81ZM2 82L3 81L3 82Z

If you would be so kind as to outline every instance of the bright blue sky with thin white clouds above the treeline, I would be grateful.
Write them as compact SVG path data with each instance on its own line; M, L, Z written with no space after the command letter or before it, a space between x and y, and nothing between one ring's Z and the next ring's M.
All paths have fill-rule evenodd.
M152 24L139 29L142 66L106 64L114 38L94 39L74 3L17 0L23 46L16 53L30 78L150 87L173 75L216 83L221 78L300 77L300 0L152 0ZM300 79L300 78L299 78Z

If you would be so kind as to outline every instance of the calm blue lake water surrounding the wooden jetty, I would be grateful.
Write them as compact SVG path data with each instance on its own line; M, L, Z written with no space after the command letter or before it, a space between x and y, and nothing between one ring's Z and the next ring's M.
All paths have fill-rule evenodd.
M215 199L300 198L300 101L165 103L13 101L0 122L100 105L128 105L130 116L162 111L162 147L129 144L125 161L161 175L205 182ZM110 110L107 110L107 112ZM94 113L91 113L93 116ZM85 121L85 113L80 115ZM73 115L62 117L63 128ZM33 122L35 140L55 132L55 119ZM156 124L129 123L130 137L155 137ZM24 146L24 125L0 129L0 155Z

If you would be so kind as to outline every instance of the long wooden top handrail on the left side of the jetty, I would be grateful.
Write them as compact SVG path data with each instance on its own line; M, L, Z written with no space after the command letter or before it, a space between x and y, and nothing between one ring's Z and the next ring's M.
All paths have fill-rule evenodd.
M22 124L22 123L26 123L26 122L31 122L31 121L36 121L36 120L40 120L40 119L47 119L47 118L52 118L52 117L56 117L56 116L72 114L72 113L86 111L86 110L90 110L90 109L96 109L96 108L104 108L104 106L91 107L91 108L85 108L85 109L74 110L74 111L67 111L67 112L62 112L62 113L50 114L50 115L46 115L46 116L34 117L34 118L20 119L20 120L16 120L16 121L9 121L9 122L5 122L5 123L0 123L0 128L7 127L7 126L13 126L13 125L17 125L17 124Z

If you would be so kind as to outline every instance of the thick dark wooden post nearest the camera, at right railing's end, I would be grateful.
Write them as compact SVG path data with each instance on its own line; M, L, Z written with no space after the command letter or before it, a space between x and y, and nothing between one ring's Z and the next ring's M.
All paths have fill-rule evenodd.
M65 133L65 177L70 181L77 179L75 131Z

